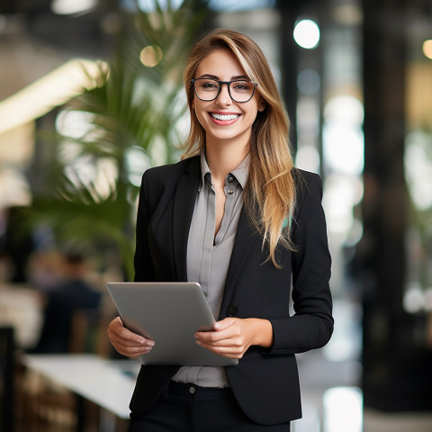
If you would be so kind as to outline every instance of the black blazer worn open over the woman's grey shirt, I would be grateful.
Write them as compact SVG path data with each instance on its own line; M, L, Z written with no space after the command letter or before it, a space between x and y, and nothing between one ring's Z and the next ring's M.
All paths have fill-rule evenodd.
M323 347L333 331L322 184L319 175L294 173L298 196L292 233L298 251L279 250L277 260L283 268L276 269L266 261L262 239L242 211L220 309L220 320L227 316L262 318L273 325L272 348L250 347L237 366L226 367L239 406L247 417L263 425L302 417L294 355ZM200 157L144 173L135 281L186 281L187 239L200 178ZM292 296L295 313L290 316ZM142 366L130 410L147 410L178 367Z

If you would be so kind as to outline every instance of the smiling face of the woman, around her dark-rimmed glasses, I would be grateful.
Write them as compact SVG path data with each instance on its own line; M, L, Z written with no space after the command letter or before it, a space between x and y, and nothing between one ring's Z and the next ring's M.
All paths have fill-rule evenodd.
M194 77L211 77L219 81L249 81L237 58L228 49L217 49L204 57ZM263 111L265 106L257 90L246 103L233 101L229 97L228 85L221 86L219 96L213 101L202 101L196 94L193 99L193 109L205 130L207 146L220 143L247 146L257 112Z

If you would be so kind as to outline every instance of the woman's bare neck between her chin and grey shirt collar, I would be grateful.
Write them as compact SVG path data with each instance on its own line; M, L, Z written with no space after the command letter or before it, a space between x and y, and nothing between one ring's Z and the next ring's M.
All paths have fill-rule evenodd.
M214 182L225 182L225 177L234 170L247 156L248 145L238 146L212 146L206 143L205 158L211 170L211 179Z

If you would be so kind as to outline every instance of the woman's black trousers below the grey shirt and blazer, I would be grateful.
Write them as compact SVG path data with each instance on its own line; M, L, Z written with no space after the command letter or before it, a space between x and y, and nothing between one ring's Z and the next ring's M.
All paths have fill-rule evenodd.
M248 419L230 389L170 383L146 412L130 414L129 432L289 432L290 423L262 426Z

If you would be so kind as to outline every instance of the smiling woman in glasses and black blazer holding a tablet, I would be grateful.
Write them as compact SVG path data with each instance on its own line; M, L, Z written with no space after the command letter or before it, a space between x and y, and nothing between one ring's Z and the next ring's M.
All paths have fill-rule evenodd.
M302 416L294 355L333 331L320 177L293 167L288 118L255 42L212 31L184 85L184 158L142 178L135 281L199 282L218 321L196 343L239 362L142 366L130 431L288 431ZM108 333L124 356L157 349L120 318Z

